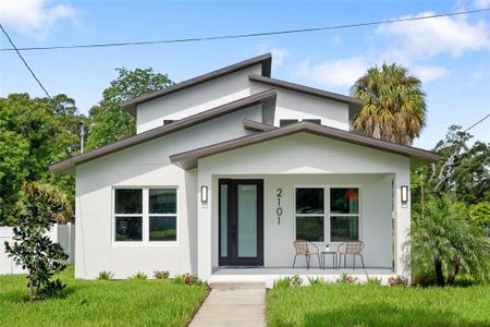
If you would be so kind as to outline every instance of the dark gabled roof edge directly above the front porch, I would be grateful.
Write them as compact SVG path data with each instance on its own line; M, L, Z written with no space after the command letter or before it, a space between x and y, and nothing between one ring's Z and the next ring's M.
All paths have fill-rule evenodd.
M177 164L185 169L197 167L197 160L200 158L209 157L216 154L224 153L228 150L254 145L260 142L266 142L274 138L279 138L286 135L296 134L299 132L307 132L324 137L330 137L339 141L348 142L370 148L380 149L396 155L402 155L412 158L413 166L426 165L434 162L440 159L439 155L425 149L400 145L396 143L387 142L383 140L372 138L356 133L338 130L324 125L319 125L309 122L298 122L284 128L277 128L259 134L248 135L223 143L193 149L182 154L175 154L170 156L170 160L173 164Z

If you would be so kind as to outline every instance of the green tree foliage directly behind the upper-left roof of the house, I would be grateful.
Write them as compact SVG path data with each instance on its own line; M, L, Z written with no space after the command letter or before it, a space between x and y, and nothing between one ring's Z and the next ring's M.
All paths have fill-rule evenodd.
M90 133L87 149L94 149L135 133L135 119L121 107L121 102L143 96L174 83L167 74L152 69L130 71L118 69L119 76L103 90L102 100L90 109Z

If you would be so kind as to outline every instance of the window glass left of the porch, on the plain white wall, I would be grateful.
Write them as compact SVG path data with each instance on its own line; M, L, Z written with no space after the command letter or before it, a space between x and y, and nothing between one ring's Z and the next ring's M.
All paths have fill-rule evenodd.
M176 241L175 189L115 189L114 240Z

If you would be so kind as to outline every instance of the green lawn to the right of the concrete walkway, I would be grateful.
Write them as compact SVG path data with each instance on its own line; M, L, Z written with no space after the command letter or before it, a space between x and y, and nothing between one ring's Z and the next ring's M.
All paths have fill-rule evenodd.
M268 326L490 326L490 287L327 284L273 289Z

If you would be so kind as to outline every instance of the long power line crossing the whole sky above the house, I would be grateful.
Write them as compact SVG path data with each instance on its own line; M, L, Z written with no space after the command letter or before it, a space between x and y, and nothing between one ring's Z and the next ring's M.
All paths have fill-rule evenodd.
M260 36L271 36L271 35L283 35L283 34L311 33L311 32L319 32L319 31L345 29L345 28L364 27L364 26L372 26L372 25L380 25L380 24L414 22L414 21L422 21L422 20L430 20L430 19L482 13L482 12L488 12L488 11L490 11L490 8L478 9L478 10L457 11L457 12L443 13L443 14L433 14L433 15L427 15L427 16L420 16L420 17L405 17L405 19L396 19L396 20L375 21L375 22L366 22L366 23L353 23L353 24L344 24L344 25L331 25L331 26L311 27L311 28L259 32L259 33L247 33L247 34L232 34L232 35L221 35L221 36L208 36L208 37L176 38L176 39L163 39L163 40L143 40L143 41L88 44L88 45L71 45L71 46L49 46L49 47L24 47L24 48L19 48L19 50L32 51L32 50L59 50L59 49L79 49L79 48L108 48L108 47L147 46L147 45L159 45L159 44L177 44L177 43L207 41L207 40L219 40L219 39L248 38L248 37L260 37ZM0 49L0 51L13 51L13 50L16 50L16 49L15 48L1 48Z

